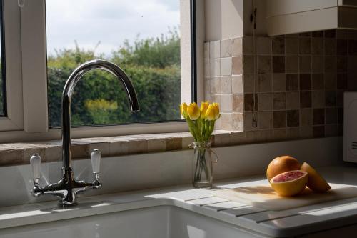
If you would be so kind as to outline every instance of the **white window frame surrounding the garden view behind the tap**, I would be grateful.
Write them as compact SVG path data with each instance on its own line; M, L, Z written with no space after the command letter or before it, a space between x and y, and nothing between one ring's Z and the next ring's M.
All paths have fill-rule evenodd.
M4 0L6 3L16 3L14 0ZM14 6L12 6L14 7ZM187 20L190 7L190 1L181 0L181 49L184 45L184 50L181 50L181 81L185 84L186 91L189 89L189 94L182 94L182 101L191 101L191 24ZM16 119L21 119L18 122L19 127L1 127L0 131L9 128L9 132L0 133L0 142L16 142L25 140L45 140L45 139L60 139L61 129L49 129L48 120L48 101L47 101L47 66L46 66L46 7L45 0L26 0L25 6L19 8L19 19L16 29L21 29L16 37L17 46L21 47L21 52L16 59L21 59L22 80L20 86L16 84L20 92L22 90L23 101L21 108L18 110ZM188 9L187 9L188 8ZM204 7L203 0L196 0L196 78L197 78L197 101L203 101L203 41L204 41ZM188 16L187 16L188 15ZM14 17L15 18L15 17ZM188 18L189 19L189 18ZM14 22L12 24L15 24ZM7 31L5 31L6 36ZM7 37L6 37L7 39ZM184 41L184 42L182 42ZM14 42L13 42L14 44ZM13 46L14 47L14 46ZM6 45L6 50L8 45ZM6 62L8 62L6 54ZM19 57L20 56L20 57ZM14 61L14 59L12 59ZM6 64L8 66L10 64ZM186 69L186 70L185 70ZM15 71L13 69L13 71ZM9 77L9 70L6 67L6 78ZM9 78L10 79L10 78ZM21 74L19 75L21 79ZM12 80L12 79L11 79ZM18 83L19 84L19 83ZM11 84L8 84L7 90L11 90ZM21 90L20 90L21 89ZM185 90L185 89L183 89ZM12 95L11 91L9 94ZM8 94L8 95L9 95ZM20 94L21 95L21 94ZM10 116L13 104L9 104L14 99L8 99L8 112ZM19 101L16 101L19 104ZM140 102L139 102L140 103ZM13 112L11 112L13 113ZM10 117L9 117L10 119ZM11 117L12 119L12 117ZM71 129L73 138L80 137L108 137L125 134L154 134L164 132L186 132L188 127L186 122L158 122L144 124L126 124L101 127L74 127Z

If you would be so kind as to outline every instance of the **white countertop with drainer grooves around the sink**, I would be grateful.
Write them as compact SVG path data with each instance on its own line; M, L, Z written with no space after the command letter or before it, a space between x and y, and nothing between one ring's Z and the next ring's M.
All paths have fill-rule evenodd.
M321 167L318 171L328 182L357 185L357 167ZM226 189L264 182L263 176L245 177L217 182L216 187ZM326 227L341 227L355 223L357 218L357 197L283 211L266 211L213 197L212 190L186 186L80 197L79 205L69 209L59 209L56 202L1 207L0 229L161 205L181 207L273 237L298 235L306 229L315 232Z

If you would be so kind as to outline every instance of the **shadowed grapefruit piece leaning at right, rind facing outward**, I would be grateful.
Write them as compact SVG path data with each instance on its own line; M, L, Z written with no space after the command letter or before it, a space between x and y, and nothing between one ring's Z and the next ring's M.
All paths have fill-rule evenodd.
M301 170L308 172L308 188L313 192L326 192L331 189L326 180L310 164L303 162Z

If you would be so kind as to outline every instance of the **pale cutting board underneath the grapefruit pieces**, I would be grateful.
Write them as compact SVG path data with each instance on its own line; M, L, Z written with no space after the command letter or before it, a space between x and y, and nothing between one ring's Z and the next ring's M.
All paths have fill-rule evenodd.
M272 211L357 197L357 187L345 184L330 184L330 186L331 190L322 194L312 192L306 187L301 194L294 197L279 196L271 188L270 184L217 190L214 191L213 194L216 197L228 199L233 202L240 202L260 209Z

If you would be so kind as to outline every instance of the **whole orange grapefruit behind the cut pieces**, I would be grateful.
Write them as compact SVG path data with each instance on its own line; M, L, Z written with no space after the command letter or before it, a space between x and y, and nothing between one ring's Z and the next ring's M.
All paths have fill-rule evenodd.
M273 159L266 169L266 177L270 182L273 177L283 172L300 169L300 163L294 157L284 155Z

